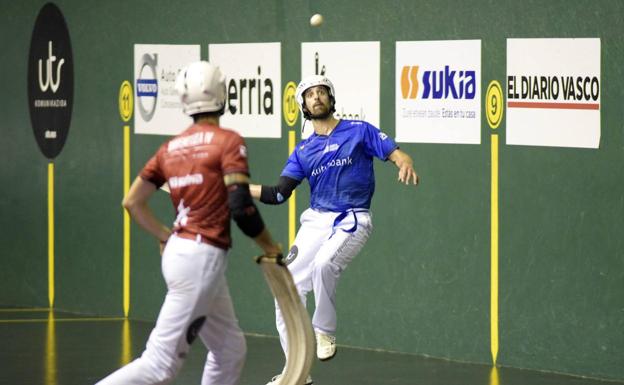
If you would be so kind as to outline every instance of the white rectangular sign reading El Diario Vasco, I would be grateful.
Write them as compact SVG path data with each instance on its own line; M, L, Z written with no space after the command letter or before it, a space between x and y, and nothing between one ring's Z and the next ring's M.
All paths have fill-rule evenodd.
M507 39L507 144L598 148L600 39Z

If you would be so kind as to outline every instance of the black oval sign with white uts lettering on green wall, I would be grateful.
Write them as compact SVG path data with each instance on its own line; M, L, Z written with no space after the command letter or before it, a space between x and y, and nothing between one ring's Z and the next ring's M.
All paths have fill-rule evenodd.
M28 55L28 108L37 144L55 158L63 149L71 123L74 62L61 10L47 3L39 11Z

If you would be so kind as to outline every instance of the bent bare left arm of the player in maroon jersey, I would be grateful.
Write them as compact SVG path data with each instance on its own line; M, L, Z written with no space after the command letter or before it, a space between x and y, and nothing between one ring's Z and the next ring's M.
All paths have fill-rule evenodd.
M169 239L169 235L171 235L171 230L156 219L147 205L147 201L155 191L156 186L153 183L137 177L132 182L132 186L130 186L128 194L124 197L122 205L139 226L156 237L161 243L165 243Z

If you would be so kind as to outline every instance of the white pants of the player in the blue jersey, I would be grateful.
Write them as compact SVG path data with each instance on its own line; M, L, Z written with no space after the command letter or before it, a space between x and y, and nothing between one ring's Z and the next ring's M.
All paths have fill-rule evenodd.
M301 214L301 228L287 256L288 270L306 305L313 290L316 308L312 326L316 332L336 333L336 285L349 262L360 252L373 229L367 210L354 210L335 224L340 213L307 209ZM350 231L350 232L349 232ZM286 324L275 303L275 321L284 352L287 351Z

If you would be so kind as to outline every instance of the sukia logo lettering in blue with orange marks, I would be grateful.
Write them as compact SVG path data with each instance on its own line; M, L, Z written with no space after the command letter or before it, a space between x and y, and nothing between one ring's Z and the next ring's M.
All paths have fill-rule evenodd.
M416 99L422 82L422 99L474 99L477 75L472 70L451 70L446 65L443 70L422 72L420 66L404 66L401 70L401 96L403 99Z

